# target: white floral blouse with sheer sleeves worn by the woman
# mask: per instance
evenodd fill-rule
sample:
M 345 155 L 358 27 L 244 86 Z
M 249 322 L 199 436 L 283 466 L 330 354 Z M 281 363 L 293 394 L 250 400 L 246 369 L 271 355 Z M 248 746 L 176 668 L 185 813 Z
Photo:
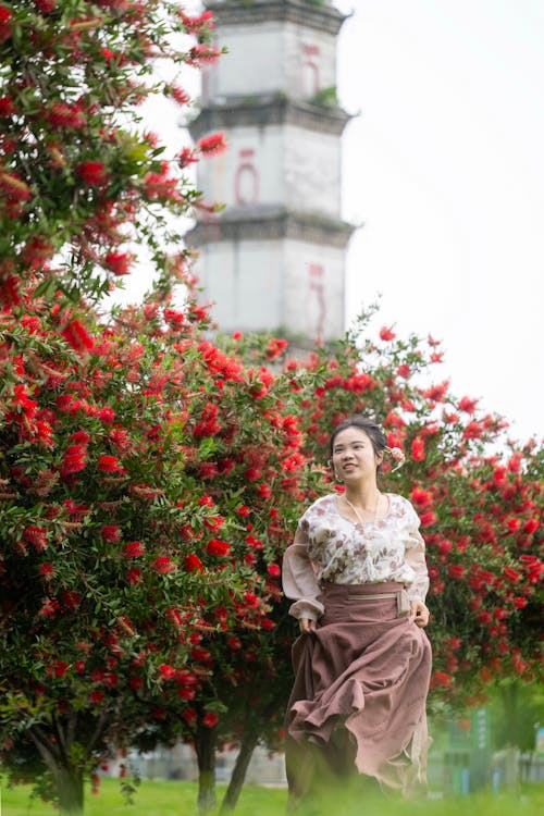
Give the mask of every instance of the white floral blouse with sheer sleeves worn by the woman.
M 379 521 L 355 522 L 338 510 L 337 494 L 318 498 L 298 522 L 283 558 L 283 590 L 295 618 L 317 618 L 320 581 L 404 583 L 410 601 L 424 601 L 429 589 L 425 544 L 419 518 L 404 496 L 387 493 L 388 508 Z

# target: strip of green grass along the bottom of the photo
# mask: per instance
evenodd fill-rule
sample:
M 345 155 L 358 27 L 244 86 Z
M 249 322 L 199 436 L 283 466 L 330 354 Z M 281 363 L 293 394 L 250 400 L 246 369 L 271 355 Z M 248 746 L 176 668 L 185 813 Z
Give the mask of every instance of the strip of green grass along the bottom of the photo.
M 218 786 L 219 800 L 224 786 Z M 195 816 L 197 786 L 194 782 L 144 781 L 134 805 L 124 804 L 119 782 L 103 779 L 98 796 L 86 795 L 85 816 Z M 236 816 L 283 816 L 286 791 L 247 786 Z M 306 816 L 310 811 L 300 812 Z M 540 816 L 544 813 L 544 784 L 526 788 L 520 794 L 473 794 L 445 800 L 385 801 L 346 789 L 326 792 L 316 816 Z M 2 787 L 1 816 L 54 816 L 51 805 L 30 799 L 28 787 Z

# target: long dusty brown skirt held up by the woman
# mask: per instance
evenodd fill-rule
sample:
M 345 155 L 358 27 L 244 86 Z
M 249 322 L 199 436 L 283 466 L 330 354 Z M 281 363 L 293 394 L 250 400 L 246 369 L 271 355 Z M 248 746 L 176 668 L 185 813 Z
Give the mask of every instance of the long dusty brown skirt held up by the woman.
M 401 584 L 329 583 L 320 601 L 316 632 L 293 645 L 290 793 L 308 792 L 326 765 L 409 794 L 425 781 L 429 640 L 407 615 Z

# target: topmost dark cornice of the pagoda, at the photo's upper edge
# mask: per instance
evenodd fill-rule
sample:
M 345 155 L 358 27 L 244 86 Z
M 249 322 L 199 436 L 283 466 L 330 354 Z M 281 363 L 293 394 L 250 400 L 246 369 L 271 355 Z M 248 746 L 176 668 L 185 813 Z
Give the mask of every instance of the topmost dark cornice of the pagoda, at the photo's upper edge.
M 260 25 L 269 21 L 288 21 L 336 36 L 346 15 L 332 5 L 305 0 L 224 0 L 207 2 L 218 24 Z

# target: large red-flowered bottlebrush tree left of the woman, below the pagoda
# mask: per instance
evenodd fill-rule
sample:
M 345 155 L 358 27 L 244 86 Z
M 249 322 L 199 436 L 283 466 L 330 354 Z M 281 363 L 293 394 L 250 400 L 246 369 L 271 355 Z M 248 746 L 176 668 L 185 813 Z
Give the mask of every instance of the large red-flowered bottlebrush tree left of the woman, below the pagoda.
M 82 356 L 23 304 L 0 322 L 4 762 L 34 744 L 71 813 L 111 744 L 196 724 L 208 770 L 214 653 L 274 627 L 304 458 L 289 384 L 202 339 L 196 307 L 88 325 Z

